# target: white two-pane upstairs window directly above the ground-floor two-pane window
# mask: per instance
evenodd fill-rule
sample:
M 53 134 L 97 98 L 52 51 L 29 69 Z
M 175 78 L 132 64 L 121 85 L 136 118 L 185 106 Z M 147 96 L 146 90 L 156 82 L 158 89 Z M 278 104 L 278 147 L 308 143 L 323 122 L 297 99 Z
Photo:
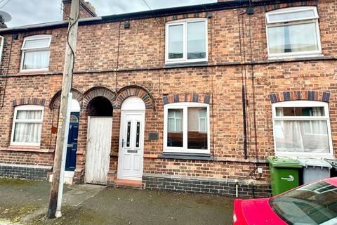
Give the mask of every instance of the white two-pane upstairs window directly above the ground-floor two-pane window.
M 207 33 L 206 18 L 190 18 L 166 23 L 165 62 L 206 62 Z

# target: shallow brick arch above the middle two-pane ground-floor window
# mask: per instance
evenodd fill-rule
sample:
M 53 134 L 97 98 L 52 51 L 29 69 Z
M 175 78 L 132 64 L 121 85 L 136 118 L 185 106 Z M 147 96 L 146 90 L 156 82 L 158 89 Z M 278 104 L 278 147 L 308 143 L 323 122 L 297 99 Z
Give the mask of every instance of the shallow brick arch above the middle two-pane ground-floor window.
M 180 103 L 180 102 L 194 102 L 194 103 L 206 103 L 211 102 L 211 96 L 209 94 L 169 94 L 163 96 L 164 105 L 170 103 Z

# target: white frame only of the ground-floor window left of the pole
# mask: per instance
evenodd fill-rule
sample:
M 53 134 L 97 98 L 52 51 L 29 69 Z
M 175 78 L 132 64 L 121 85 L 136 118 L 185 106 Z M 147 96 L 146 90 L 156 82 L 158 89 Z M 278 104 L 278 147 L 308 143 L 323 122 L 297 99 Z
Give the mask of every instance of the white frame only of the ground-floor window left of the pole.
M 32 111 L 32 110 L 41 110 L 41 120 L 18 120 L 16 119 L 16 115 L 19 111 Z M 14 110 L 14 117 L 13 117 L 13 124 L 12 124 L 12 134 L 11 134 L 11 145 L 13 146 L 40 146 L 41 142 L 39 143 L 27 143 L 27 142 L 15 142 L 14 141 L 14 132 L 15 132 L 15 123 L 16 122 L 34 122 L 34 123 L 41 123 L 44 120 L 44 106 L 41 105 L 19 105 L 15 107 Z M 42 131 L 41 131 L 42 133 Z M 41 133 L 39 134 L 41 140 Z

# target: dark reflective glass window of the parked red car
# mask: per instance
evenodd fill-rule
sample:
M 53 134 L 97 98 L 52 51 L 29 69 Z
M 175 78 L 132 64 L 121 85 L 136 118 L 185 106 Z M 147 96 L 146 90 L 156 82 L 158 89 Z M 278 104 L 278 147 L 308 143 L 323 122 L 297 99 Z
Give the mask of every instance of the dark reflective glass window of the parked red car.
M 270 199 L 287 224 L 337 224 L 337 187 L 319 181 Z

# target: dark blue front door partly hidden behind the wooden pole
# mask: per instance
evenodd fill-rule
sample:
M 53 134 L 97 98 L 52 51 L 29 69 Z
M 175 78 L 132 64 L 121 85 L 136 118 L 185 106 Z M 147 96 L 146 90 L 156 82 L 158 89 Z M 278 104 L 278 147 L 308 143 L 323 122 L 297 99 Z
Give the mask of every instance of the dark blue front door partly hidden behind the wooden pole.
M 76 167 L 77 136 L 79 135 L 79 112 L 70 113 L 67 158 L 65 170 L 74 171 Z

